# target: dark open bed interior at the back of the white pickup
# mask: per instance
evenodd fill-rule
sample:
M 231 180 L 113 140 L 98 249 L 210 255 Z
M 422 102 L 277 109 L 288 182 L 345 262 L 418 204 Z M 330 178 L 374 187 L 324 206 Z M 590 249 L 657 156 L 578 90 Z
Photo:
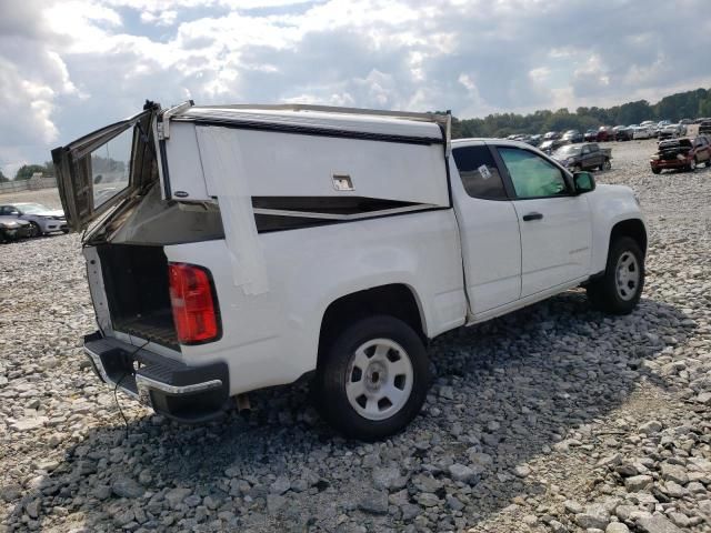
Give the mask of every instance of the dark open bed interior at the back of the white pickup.
M 162 247 L 98 247 L 113 329 L 179 350 Z

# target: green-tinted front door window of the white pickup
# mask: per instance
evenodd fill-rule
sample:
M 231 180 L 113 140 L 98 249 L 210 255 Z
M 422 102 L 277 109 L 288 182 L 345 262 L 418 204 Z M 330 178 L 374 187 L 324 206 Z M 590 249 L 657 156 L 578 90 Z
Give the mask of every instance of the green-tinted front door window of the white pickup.
M 568 194 L 563 172 L 540 155 L 518 148 L 499 147 L 518 198 L 545 198 Z

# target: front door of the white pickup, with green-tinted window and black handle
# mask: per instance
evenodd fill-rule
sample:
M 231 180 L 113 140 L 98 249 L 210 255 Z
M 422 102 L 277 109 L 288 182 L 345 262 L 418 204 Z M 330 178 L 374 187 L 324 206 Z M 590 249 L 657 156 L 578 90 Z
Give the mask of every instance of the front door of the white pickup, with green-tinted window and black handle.
M 584 195 L 574 195 L 563 170 L 518 147 L 498 147 L 514 190 L 521 228 L 521 298 L 590 273 L 592 223 Z

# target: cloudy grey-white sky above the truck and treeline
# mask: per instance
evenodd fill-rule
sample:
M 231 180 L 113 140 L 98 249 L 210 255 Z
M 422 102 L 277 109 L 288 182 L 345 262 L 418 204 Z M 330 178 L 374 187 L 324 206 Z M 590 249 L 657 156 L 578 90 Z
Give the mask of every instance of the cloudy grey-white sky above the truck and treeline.
M 711 87 L 709 0 L 0 0 L 0 169 L 163 105 L 490 112 Z

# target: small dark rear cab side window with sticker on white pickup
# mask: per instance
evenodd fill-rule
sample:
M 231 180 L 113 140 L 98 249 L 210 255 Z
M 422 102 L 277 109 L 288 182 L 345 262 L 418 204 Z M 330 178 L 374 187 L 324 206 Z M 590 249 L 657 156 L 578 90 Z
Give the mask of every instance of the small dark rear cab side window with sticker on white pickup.
M 507 200 L 507 191 L 489 147 L 462 147 L 452 150 L 467 194 L 488 200 Z

